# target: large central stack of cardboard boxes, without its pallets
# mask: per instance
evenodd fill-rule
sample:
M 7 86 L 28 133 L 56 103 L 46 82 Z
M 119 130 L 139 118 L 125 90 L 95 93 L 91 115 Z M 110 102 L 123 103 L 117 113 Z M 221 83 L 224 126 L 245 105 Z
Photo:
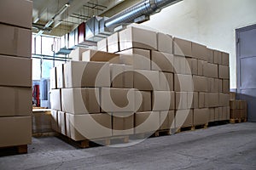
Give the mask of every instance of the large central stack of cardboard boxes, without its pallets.
M 137 26 L 103 39 L 98 49 L 77 48 L 73 61 L 52 70 L 57 132 L 96 139 L 205 125 L 212 115 L 229 119 L 228 54 L 217 51 L 214 63 L 206 46 Z

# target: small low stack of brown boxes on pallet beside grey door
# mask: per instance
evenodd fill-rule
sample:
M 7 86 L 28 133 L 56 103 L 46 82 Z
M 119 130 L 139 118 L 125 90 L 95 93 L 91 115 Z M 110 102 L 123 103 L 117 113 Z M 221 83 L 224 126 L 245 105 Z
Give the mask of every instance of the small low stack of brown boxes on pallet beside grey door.
M 237 100 L 236 93 L 230 92 L 230 123 L 247 122 L 247 101 Z

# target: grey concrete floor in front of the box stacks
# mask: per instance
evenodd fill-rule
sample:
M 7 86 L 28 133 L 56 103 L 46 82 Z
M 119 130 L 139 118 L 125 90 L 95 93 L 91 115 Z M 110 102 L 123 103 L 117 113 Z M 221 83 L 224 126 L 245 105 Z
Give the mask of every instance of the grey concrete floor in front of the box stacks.
M 0 169 L 256 169 L 256 123 L 209 127 L 123 148 L 78 149 L 33 138 L 28 154 L 1 156 Z

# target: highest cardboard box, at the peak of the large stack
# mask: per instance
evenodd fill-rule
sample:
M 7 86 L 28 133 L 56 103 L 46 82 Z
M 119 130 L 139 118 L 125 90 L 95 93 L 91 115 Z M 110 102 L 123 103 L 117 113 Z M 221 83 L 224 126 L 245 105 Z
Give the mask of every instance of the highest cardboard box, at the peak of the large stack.
M 129 48 L 143 48 L 157 50 L 156 32 L 137 27 L 128 27 L 119 32 L 120 51 Z

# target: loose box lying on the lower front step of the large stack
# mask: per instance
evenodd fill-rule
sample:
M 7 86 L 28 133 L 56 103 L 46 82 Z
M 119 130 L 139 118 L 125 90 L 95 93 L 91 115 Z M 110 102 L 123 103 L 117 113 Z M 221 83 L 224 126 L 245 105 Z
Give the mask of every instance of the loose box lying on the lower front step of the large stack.
M 119 54 L 110 54 L 107 52 L 89 49 L 82 54 L 83 61 L 109 62 L 119 64 Z

